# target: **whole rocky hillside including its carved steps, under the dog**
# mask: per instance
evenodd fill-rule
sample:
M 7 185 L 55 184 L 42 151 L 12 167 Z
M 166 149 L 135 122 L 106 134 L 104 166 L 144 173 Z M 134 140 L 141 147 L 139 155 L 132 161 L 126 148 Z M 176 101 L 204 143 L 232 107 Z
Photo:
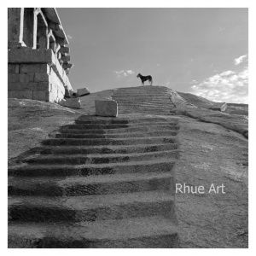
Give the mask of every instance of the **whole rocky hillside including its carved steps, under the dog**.
M 97 98 L 119 117 L 96 117 Z M 9 247 L 248 246 L 246 106 L 163 86 L 81 102 L 9 99 Z

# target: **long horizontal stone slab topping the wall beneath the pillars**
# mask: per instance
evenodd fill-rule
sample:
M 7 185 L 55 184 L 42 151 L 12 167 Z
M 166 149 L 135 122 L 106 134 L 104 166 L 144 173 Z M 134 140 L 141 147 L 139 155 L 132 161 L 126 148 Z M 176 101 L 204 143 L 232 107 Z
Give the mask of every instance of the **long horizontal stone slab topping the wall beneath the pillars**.
M 20 48 L 10 49 L 10 63 L 49 63 L 55 64 L 55 55 L 51 49 Z

